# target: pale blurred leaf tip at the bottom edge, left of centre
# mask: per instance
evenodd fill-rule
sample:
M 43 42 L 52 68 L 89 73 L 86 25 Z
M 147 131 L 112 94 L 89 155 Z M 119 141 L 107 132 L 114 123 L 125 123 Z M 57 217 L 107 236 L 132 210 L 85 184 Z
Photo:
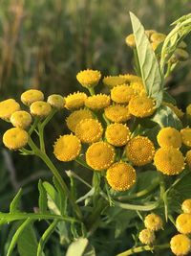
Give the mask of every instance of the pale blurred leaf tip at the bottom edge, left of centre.
M 66 256 L 82 256 L 88 243 L 86 238 L 79 238 L 69 245 Z

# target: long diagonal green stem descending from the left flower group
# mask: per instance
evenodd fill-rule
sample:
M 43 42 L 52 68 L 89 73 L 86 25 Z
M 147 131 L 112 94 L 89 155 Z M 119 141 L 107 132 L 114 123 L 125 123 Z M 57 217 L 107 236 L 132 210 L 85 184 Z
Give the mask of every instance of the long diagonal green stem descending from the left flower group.
M 56 180 L 58 181 L 58 183 L 60 184 L 61 186 L 61 189 L 63 191 L 64 194 L 67 195 L 67 197 L 69 198 L 70 202 L 71 202 L 71 205 L 73 206 L 74 208 L 74 212 L 77 216 L 77 218 L 79 220 L 82 219 L 82 214 L 81 214 L 81 210 L 79 208 L 79 206 L 75 203 L 74 201 L 74 198 L 71 196 L 71 193 L 66 185 L 66 183 L 64 182 L 63 178 L 61 175 L 59 175 L 57 169 L 55 168 L 55 166 L 53 165 L 53 162 L 51 161 L 51 159 L 49 158 L 49 156 L 45 153 L 45 152 L 42 152 L 40 151 L 36 146 L 35 144 L 33 143 L 32 139 L 30 138 L 29 140 L 29 145 L 30 147 L 32 148 L 32 150 L 34 151 L 34 153 L 39 156 L 43 161 L 44 163 L 49 167 L 49 169 L 52 171 L 54 177 L 56 178 Z

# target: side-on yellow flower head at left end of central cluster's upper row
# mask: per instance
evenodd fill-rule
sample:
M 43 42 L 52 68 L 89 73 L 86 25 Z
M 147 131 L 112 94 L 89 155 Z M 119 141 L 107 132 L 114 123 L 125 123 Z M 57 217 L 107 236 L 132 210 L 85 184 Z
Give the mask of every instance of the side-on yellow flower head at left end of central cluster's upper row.
M 74 110 L 84 106 L 87 95 L 84 92 L 74 92 L 69 94 L 65 99 L 65 107 Z

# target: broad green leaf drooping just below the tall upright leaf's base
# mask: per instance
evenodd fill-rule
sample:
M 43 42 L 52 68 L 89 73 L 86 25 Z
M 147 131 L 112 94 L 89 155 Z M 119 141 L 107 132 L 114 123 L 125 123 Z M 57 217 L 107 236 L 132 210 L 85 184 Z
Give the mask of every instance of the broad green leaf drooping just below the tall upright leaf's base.
M 151 120 L 156 122 L 160 128 L 182 128 L 182 124 L 178 116 L 166 105 L 161 105 Z

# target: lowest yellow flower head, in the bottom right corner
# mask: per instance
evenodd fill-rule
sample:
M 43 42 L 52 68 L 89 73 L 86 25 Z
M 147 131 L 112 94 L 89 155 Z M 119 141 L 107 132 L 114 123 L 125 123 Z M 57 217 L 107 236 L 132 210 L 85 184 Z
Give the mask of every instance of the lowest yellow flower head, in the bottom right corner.
M 191 240 L 185 235 L 176 235 L 170 241 L 170 248 L 177 256 L 187 255 L 191 250 Z

